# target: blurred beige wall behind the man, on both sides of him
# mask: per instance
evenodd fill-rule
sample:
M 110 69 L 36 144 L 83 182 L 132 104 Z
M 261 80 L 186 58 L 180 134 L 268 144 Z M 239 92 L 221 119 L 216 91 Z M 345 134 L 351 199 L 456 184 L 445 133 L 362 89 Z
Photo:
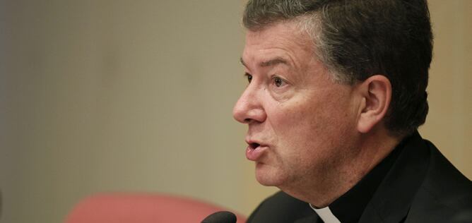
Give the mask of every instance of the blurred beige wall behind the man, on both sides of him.
M 249 215 L 231 110 L 246 80 L 244 0 L 0 0 L 0 222 L 61 222 L 99 192 L 170 193 Z M 472 178 L 472 1 L 430 1 L 420 128 Z

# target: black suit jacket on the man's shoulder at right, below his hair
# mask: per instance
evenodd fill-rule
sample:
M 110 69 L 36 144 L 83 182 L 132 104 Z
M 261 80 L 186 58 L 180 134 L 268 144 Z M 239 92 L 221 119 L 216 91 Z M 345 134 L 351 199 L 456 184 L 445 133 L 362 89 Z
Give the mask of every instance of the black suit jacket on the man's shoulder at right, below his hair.
M 418 133 L 374 193 L 360 222 L 472 222 L 472 183 Z

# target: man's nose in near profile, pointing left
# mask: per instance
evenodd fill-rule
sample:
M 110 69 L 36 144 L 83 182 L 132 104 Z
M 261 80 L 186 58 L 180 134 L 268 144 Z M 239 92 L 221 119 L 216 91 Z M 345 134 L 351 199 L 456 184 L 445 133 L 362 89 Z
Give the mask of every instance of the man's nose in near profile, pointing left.
M 264 122 L 266 120 L 266 111 L 261 104 L 261 92 L 254 87 L 247 86 L 232 109 L 232 116 L 240 123 Z

